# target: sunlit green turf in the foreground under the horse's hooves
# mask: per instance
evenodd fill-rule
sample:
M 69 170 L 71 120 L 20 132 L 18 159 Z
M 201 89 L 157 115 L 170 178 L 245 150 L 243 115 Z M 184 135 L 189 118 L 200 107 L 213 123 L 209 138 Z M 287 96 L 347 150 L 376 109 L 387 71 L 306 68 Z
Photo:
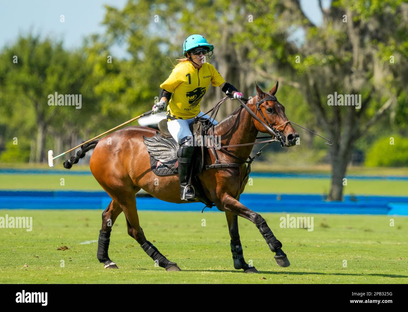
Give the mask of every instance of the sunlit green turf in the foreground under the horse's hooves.
M 288 268 L 275 264 L 257 228 L 240 218 L 244 257 L 260 272 L 244 274 L 233 268 L 221 212 L 139 212 L 147 239 L 182 272 L 155 268 L 127 235 L 123 214 L 113 226 L 109 249 L 119 270 L 98 263 L 96 242 L 81 244 L 98 239 L 99 210 L 0 210 L 0 216 L 6 214 L 33 217 L 33 230 L 0 229 L 1 283 L 408 283 L 406 217 L 309 215 L 314 230 L 308 232 L 280 228 L 282 214 L 264 213 L 284 244 Z

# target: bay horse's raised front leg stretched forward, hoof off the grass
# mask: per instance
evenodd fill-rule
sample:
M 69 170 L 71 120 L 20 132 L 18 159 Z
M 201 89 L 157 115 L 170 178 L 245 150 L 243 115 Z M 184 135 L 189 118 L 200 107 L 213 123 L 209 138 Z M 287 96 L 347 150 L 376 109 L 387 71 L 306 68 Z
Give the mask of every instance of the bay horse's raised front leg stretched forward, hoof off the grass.
M 259 232 L 261 232 L 262 237 L 264 237 L 266 243 L 268 244 L 269 249 L 271 249 L 272 252 L 275 252 L 274 258 L 278 266 L 290 266 L 290 262 L 282 250 L 282 243 L 276 239 L 275 235 L 273 235 L 273 232 L 261 215 L 250 210 L 229 194 L 222 195 L 220 197 L 220 201 L 224 211 L 232 212 L 235 215 L 252 221 L 252 223 L 256 225 Z

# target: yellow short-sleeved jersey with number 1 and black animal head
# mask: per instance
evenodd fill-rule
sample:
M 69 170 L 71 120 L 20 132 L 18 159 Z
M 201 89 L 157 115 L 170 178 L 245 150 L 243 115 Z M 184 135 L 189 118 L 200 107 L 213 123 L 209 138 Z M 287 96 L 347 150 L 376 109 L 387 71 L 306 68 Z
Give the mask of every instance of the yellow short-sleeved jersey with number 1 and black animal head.
M 197 116 L 210 81 L 213 86 L 225 82 L 212 64 L 204 63 L 200 69 L 196 69 L 190 61 L 177 64 L 169 78 L 160 84 L 160 88 L 173 93 L 167 106 L 168 120 Z

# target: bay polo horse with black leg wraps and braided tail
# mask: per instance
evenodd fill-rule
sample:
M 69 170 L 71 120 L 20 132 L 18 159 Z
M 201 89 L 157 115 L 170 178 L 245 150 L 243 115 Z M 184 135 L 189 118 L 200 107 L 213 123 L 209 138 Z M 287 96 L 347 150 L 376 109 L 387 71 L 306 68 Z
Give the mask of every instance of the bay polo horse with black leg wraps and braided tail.
M 268 126 L 276 130 L 279 130 L 277 128 L 280 126 L 284 127 L 280 129 L 283 137 L 282 147 L 295 145 L 299 134 L 286 118 L 284 106 L 275 97 L 278 83 L 268 93 L 264 93 L 256 83 L 255 87 L 257 94 L 248 100 L 246 109 L 241 105 L 212 128 L 213 135 L 221 135 L 223 146 L 243 145 L 228 147 L 227 153 L 224 152 L 225 149 L 218 150 L 217 155 L 214 155 L 214 150 L 208 149 L 208 152 L 204 153 L 204 166 L 214 164 L 216 159 L 221 163 L 237 163 L 237 159 L 248 159 L 257 133 L 271 134 Z M 263 117 L 266 124 L 260 117 Z M 91 172 L 112 198 L 109 206 L 102 212 L 102 228 L 98 239 L 97 258 L 100 263 L 104 263 L 105 268 L 118 268 L 109 258 L 108 248 L 112 226 L 123 211 L 128 234 L 140 244 L 155 263 L 167 271 L 180 271 L 177 263 L 169 261 L 146 239 L 137 215 L 135 195 L 141 189 L 163 201 L 185 203 L 180 199 L 180 185 L 176 174 L 157 176 L 151 170 L 149 153 L 143 144 L 143 136 L 152 137 L 155 133 L 157 131 L 153 128 L 130 126 L 91 142 L 83 150 L 84 155 L 86 151 L 95 148 L 89 163 Z M 245 163 L 242 164 L 245 165 Z M 275 252 L 274 258 L 277 265 L 282 267 L 290 265 L 282 250 L 282 243 L 273 235 L 265 219 L 239 202 L 239 195 L 244 191 L 248 181 L 246 166 L 202 170 L 198 179 L 206 197 L 212 200 L 219 210 L 225 212 L 235 269 L 243 269 L 246 273 L 258 272 L 244 260 L 238 232 L 238 216 L 250 220 L 259 229 L 270 250 Z

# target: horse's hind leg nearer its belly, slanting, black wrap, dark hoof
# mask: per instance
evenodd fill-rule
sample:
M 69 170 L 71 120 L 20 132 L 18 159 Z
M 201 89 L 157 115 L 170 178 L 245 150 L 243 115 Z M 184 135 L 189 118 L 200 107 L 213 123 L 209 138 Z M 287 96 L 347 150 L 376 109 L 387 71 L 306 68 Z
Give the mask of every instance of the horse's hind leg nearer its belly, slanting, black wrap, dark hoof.
M 126 216 L 128 234 L 133 237 L 140 247 L 157 263 L 158 266 L 165 268 L 166 271 L 181 271 L 177 263 L 169 261 L 153 244 L 146 239 L 143 230 L 140 227 L 139 216 L 137 215 L 135 195 L 127 197 L 120 203 Z

